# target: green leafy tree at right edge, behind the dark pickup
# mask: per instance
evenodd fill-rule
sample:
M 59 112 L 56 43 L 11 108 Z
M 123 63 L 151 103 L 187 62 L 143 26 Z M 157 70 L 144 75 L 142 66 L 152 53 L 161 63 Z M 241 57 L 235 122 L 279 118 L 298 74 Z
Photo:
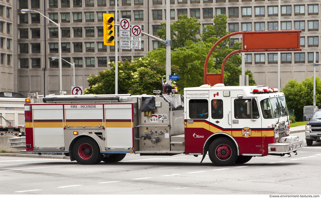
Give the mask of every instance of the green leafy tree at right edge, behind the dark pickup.
M 307 105 L 313 105 L 313 76 L 305 78 L 300 83 L 297 80 L 290 79 L 281 90 L 284 92 L 287 108 L 294 109 L 294 115 L 297 121 L 303 117 L 303 108 Z M 321 105 L 321 82 L 318 76 L 315 78 L 315 104 Z

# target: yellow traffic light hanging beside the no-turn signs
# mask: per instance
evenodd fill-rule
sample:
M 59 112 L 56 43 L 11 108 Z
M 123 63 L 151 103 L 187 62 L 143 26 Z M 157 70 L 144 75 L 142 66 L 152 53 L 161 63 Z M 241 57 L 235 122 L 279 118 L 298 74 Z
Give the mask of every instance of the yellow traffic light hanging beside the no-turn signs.
M 115 45 L 114 14 L 103 13 L 104 22 L 104 44 Z

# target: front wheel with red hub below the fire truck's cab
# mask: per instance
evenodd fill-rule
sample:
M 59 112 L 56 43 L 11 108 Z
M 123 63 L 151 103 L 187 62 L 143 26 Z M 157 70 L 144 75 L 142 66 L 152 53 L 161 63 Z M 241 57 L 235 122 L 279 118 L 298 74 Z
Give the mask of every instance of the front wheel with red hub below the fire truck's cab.
M 238 156 L 236 145 L 227 137 L 215 139 L 209 147 L 209 156 L 214 165 L 233 165 Z

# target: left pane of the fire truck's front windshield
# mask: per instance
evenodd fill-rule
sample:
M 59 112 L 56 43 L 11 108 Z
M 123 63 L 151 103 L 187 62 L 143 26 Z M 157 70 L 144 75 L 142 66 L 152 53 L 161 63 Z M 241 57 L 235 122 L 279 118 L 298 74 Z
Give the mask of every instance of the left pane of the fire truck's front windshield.
M 284 99 L 285 102 L 285 99 Z M 276 97 L 266 98 L 261 100 L 261 108 L 264 118 L 279 117 L 278 100 Z M 284 107 L 285 108 L 285 107 Z

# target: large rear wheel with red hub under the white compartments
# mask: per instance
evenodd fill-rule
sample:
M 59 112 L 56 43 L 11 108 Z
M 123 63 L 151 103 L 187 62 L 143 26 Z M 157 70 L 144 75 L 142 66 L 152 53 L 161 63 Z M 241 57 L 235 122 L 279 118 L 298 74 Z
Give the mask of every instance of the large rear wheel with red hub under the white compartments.
M 95 164 L 102 159 L 98 144 L 90 137 L 78 139 L 73 147 L 73 154 L 80 164 Z

